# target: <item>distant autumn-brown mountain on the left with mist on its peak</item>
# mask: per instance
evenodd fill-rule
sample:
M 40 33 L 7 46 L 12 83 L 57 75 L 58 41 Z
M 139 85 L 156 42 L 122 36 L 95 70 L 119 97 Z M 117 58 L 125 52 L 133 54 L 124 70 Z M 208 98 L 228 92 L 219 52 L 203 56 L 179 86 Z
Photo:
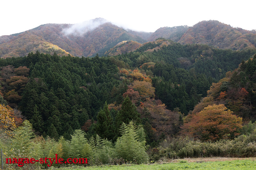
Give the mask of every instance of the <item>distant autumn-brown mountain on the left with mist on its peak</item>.
M 84 25 L 83 25 L 84 24 Z M 76 24 L 45 24 L 34 29 L 0 37 L 0 57 L 18 57 L 39 50 L 60 55 L 103 55 L 121 41 L 147 42 L 102 18 Z

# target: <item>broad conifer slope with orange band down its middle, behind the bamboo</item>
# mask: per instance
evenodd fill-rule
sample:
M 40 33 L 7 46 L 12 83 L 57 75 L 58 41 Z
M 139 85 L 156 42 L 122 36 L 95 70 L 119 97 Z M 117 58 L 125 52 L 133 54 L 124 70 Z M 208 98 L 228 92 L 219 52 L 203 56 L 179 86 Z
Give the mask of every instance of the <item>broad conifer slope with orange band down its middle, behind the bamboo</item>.
M 164 39 L 116 57 L 90 59 L 36 52 L 1 59 L 1 92 L 37 133 L 67 139 L 75 129 L 100 135 L 100 127 L 111 125 L 115 133 L 102 137 L 116 140 L 122 122 L 132 120 L 122 112 L 128 96 L 138 115 L 133 119 L 148 129 L 147 141 L 152 143 L 161 134 L 175 135 L 182 125 L 182 114 L 194 109 L 212 82 L 254 53 L 252 49 L 184 46 Z M 210 72 L 205 71 L 209 68 Z M 106 101 L 111 118 L 105 107 L 100 111 Z M 111 121 L 105 120 L 103 112 Z M 107 125 L 95 124 L 98 114 Z

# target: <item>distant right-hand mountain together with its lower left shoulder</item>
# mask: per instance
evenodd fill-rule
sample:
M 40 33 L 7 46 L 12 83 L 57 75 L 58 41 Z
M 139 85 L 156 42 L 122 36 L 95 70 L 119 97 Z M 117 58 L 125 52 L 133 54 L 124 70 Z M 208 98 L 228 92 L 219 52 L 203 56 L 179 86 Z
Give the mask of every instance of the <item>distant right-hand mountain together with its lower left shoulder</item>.
M 201 21 L 194 26 L 161 27 L 150 35 L 170 39 L 181 44 L 207 44 L 221 49 L 241 50 L 256 47 L 256 31 L 233 28 L 216 20 Z

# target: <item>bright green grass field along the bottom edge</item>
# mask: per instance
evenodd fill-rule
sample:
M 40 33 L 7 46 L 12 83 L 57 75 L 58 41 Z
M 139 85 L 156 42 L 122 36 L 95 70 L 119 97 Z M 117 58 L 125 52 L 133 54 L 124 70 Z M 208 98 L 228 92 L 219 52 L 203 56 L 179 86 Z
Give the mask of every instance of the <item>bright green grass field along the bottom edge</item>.
M 92 166 L 53 168 L 56 170 L 176 170 L 176 169 L 256 169 L 255 160 L 231 160 L 215 162 L 188 162 L 181 160 L 178 163 L 148 164 L 148 165 L 121 165 L 121 166 Z

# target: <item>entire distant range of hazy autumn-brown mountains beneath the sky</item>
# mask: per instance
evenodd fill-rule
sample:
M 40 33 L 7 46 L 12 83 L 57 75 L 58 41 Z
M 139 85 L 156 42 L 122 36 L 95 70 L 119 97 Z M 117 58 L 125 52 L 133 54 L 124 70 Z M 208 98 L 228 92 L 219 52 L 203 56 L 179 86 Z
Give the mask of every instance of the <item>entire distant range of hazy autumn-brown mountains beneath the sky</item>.
M 255 31 L 233 28 L 212 20 L 202 21 L 191 27 L 162 27 L 154 33 L 124 30 L 102 18 L 91 20 L 90 23 L 98 25 L 80 28 L 76 24 L 44 24 L 22 33 L 0 36 L 0 57 L 25 56 L 37 50 L 46 54 L 55 52 L 58 55 L 90 57 L 98 53 L 102 56 L 110 54 L 108 51 L 111 48 L 116 50 L 115 46 L 122 41 L 145 43 L 158 38 L 181 44 L 207 44 L 233 50 L 255 48 L 256 44 Z M 135 47 L 138 46 L 123 52 L 133 51 Z M 121 51 L 111 54 L 120 54 Z

